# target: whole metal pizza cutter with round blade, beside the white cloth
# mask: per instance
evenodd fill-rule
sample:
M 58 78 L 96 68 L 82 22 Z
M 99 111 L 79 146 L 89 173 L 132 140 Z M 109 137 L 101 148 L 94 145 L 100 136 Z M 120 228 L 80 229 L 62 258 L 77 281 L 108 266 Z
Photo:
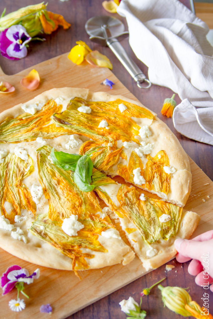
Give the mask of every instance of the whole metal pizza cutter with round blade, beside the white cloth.
M 87 21 L 85 29 L 87 34 L 90 35 L 89 40 L 102 46 L 108 46 L 112 50 L 137 82 L 138 87 L 148 89 L 151 86 L 149 79 L 146 78 L 131 57 L 127 55 L 125 49 L 118 41 L 118 38 L 123 40 L 129 35 L 128 31 L 124 31 L 124 25 L 120 20 L 110 16 L 95 16 Z M 142 85 L 144 82 L 147 85 Z

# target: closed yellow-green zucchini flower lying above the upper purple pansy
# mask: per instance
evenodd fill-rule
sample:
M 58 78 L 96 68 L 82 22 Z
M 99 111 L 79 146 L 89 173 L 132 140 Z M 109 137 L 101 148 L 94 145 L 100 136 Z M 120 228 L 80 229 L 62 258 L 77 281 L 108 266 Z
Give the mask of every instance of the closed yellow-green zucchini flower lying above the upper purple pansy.
M 28 5 L 27 7 L 20 8 L 17 11 L 11 12 L 4 16 L 4 12 L 0 18 L 0 31 L 4 31 L 5 29 L 9 28 L 10 26 L 16 25 L 21 23 L 24 27 L 23 20 L 26 18 L 32 19 L 32 15 L 36 12 L 46 9 L 46 4 L 43 2 L 40 4 L 35 5 Z M 34 19 L 34 18 L 33 18 Z M 27 32 L 29 29 L 26 28 Z

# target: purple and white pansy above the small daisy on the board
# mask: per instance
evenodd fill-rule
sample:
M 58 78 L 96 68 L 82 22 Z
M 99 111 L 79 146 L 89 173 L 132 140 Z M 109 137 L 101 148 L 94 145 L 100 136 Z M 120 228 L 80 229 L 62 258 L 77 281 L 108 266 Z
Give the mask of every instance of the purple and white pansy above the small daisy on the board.
M 9 293 L 17 283 L 27 283 L 28 285 L 33 282 L 34 279 L 39 278 L 40 270 L 36 269 L 32 275 L 25 268 L 21 268 L 18 265 L 13 265 L 7 268 L 1 277 L 1 287 L 3 290 L 3 295 Z

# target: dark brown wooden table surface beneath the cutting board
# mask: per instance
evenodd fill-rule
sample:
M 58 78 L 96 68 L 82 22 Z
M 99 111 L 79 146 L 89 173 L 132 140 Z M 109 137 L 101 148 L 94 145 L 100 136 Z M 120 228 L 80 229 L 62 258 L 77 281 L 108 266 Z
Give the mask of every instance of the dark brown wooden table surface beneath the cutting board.
M 181 0 L 183 4 L 189 7 L 189 0 Z M 118 62 L 117 58 L 107 47 L 101 47 L 93 42 L 90 42 L 88 35 L 85 31 L 84 25 L 87 19 L 95 15 L 112 15 L 119 18 L 126 26 L 126 20 L 121 18 L 118 14 L 110 14 L 102 7 L 102 1 L 97 0 L 70 0 L 61 2 L 59 0 L 51 0 L 48 4 L 48 10 L 62 14 L 66 21 L 71 23 L 71 28 L 63 30 L 59 28 L 51 35 L 44 35 L 46 38 L 44 42 L 35 41 L 30 42 L 28 48 L 28 55 L 26 58 L 12 61 L 7 60 L 0 56 L 0 66 L 5 74 L 15 74 L 24 70 L 36 63 L 40 63 L 49 58 L 58 56 L 62 53 L 70 51 L 75 45 L 75 41 L 85 41 L 91 49 L 99 50 L 101 53 L 108 56 L 113 64 L 112 72 L 116 77 L 133 93 L 133 95 L 141 101 L 142 104 L 157 113 L 158 117 L 162 119 L 172 130 L 172 132 L 179 139 L 180 144 L 185 149 L 186 153 L 194 160 L 194 162 L 203 170 L 205 174 L 213 180 L 213 167 L 212 167 L 212 153 L 213 148 L 210 145 L 195 142 L 179 134 L 173 126 L 172 119 L 167 119 L 161 115 L 160 111 L 163 101 L 167 97 L 171 97 L 172 91 L 168 88 L 152 85 L 148 90 L 140 89 L 137 87 L 136 82 L 133 81 L 129 73 Z M 20 7 L 35 4 L 34 0 L 1 0 L 0 12 L 4 7 L 7 8 L 6 13 L 18 10 Z M 127 30 L 127 27 L 126 27 Z M 128 39 L 121 43 L 126 49 L 128 54 L 133 58 L 141 70 L 147 74 L 147 67 L 134 56 L 131 50 Z M 146 45 L 146 43 L 144 43 Z M 72 75 L 71 75 L 72 76 Z M 87 79 L 85 79 L 86 81 Z M 113 92 L 110 92 L 113 94 Z M 8 97 L 10 98 L 10 97 Z M 176 95 L 175 100 L 179 104 L 179 97 Z M 188 263 L 180 264 L 176 260 L 171 262 L 175 268 L 170 272 L 165 272 L 165 265 L 144 275 L 143 277 L 135 280 L 131 284 L 117 290 L 109 296 L 95 302 L 94 304 L 84 308 L 77 313 L 69 316 L 67 319 L 119 319 L 126 318 L 125 314 L 120 311 L 118 302 L 122 299 L 128 299 L 132 296 L 136 301 L 140 302 L 140 292 L 143 288 L 151 286 L 159 279 L 166 277 L 164 285 L 166 286 L 181 286 L 189 287 L 190 294 L 194 300 L 202 305 L 203 288 L 194 283 L 194 277 L 190 276 L 187 272 Z M 157 288 L 148 297 L 143 298 L 142 308 L 147 311 L 147 317 L 152 319 L 173 319 L 180 318 L 179 315 L 172 313 L 169 309 L 163 307 L 163 302 L 159 298 Z M 213 313 L 213 294 L 210 295 L 210 308 Z M 41 316 L 42 317 L 42 316 Z

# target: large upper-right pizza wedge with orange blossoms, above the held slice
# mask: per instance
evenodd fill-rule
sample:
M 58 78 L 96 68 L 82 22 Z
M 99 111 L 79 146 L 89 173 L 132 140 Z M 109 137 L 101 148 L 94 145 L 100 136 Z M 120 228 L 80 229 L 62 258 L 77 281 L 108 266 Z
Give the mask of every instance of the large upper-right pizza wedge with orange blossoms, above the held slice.
M 71 134 L 87 137 L 80 152 L 95 168 L 183 207 L 191 190 L 189 159 L 179 141 L 142 105 L 107 93 L 76 97 L 52 116 Z

